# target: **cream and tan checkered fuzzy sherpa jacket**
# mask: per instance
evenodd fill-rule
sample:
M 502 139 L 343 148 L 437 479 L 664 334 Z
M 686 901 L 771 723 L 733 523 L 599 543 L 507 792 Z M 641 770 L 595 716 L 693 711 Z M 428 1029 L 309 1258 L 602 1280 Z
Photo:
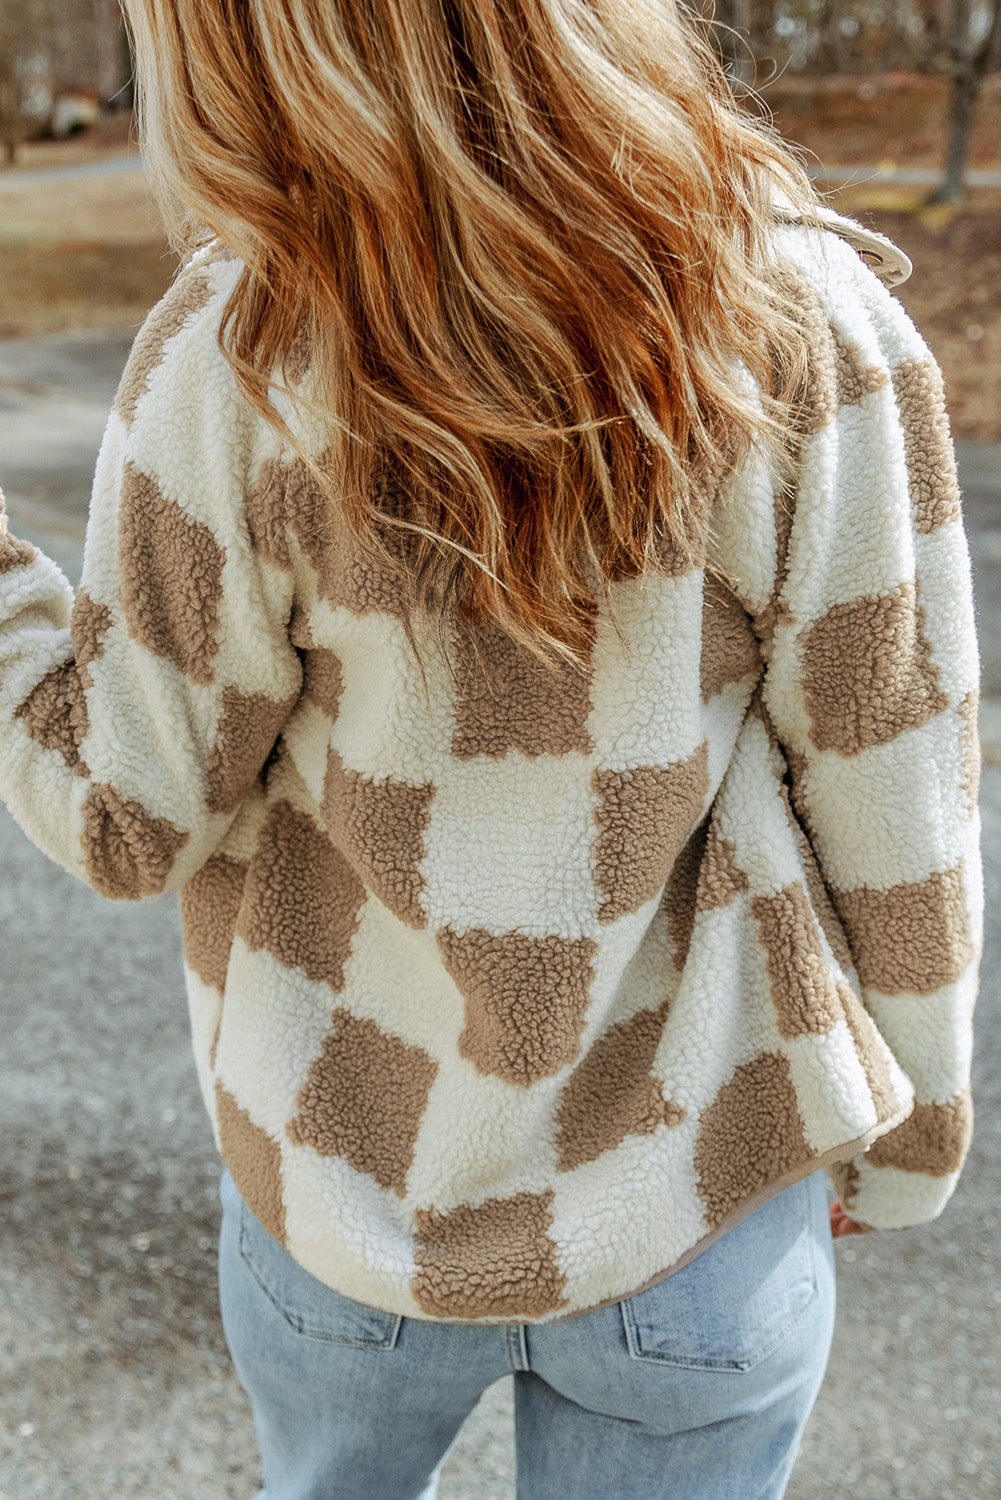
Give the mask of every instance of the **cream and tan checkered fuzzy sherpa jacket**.
M 179 891 L 236 1182 L 338 1292 L 548 1322 L 827 1167 L 933 1220 L 969 1149 L 978 652 L 936 366 L 845 238 L 779 231 L 812 338 L 794 496 L 614 585 L 587 675 L 398 596 L 216 346 L 140 333 L 83 584 L 0 531 L 0 790 L 110 897 Z M 464 627 L 465 628 L 465 627 Z

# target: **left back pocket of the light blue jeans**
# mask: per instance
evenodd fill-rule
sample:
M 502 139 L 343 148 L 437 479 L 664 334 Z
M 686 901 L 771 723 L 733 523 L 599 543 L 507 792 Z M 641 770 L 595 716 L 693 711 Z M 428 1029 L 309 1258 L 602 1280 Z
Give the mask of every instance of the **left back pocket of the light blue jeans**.
M 404 1322 L 401 1312 L 386 1312 L 335 1292 L 269 1234 L 243 1198 L 236 1208 L 239 1256 L 296 1334 L 359 1348 L 393 1348 Z

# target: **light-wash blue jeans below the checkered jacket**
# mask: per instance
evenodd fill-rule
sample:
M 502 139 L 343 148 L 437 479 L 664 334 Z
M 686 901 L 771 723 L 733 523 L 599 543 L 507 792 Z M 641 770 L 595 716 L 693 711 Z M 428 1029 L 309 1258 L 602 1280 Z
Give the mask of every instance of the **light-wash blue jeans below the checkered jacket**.
M 647 1292 L 554 1323 L 354 1302 L 291 1258 L 228 1172 L 221 1197 L 222 1323 L 254 1410 L 257 1500 L 434 1500 L 464 1419 L 512 1372 L 518 1500 L 785 1494 L 834 1334 L 824 1172 Z

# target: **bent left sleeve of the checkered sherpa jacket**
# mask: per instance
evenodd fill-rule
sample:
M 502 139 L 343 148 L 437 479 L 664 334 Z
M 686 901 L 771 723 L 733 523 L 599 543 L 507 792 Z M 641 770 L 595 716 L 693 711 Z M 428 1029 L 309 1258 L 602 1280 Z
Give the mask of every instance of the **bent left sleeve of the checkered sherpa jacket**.
M 291 576 L 245 506 L 273 440 L 216 344 L 231 280 L 231 262 L 192 262 L 140 330 L 75 596 L 0 504 L 0 795 L 108 897 L 191 879 L 299 696 Z

